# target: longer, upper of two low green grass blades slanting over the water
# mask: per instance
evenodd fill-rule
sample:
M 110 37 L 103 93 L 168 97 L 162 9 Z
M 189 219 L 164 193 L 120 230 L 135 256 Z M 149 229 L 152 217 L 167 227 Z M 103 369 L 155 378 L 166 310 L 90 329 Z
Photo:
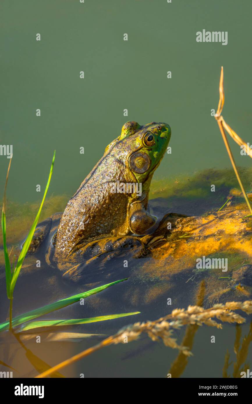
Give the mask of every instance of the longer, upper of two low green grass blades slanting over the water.
M 66 299 L 61 299 L 58 300 L 55 303 L 51 303 L 49 305 L 40 307 L 39 309 L 35 309 L 32 311 L 28 311 L 27 313 L 21 314 L 20 316 L 14 317 L 12 319 L 12 325 L 13 327 L 18 326 L 19 324 L 25 323 L 27 321 L 33 320 L 34 318 L 43 316 L 44 314 L 51 313 L 52 311 L 62 309 L 63 307 L 69 306 L 73 303 L 76 303 L 79 301 L 81 298 L 85 299 L 86 297 L 89 297 L 91 295 L 95 295 L 95 293 L 102 292 L 102 290 L 115 285 L 119 282 L 123 282 L 124 280 L 127 280 L 128 278 L 121 279 L 121 280 L 116 280 L 115 282 L 108 283 L 103 286 L 99 286 L 98 288 L 87 290 L 87 292 L 82 292 L 78 293 L 78 295 L 70 296 L 67 297 Z M 4 323 L 0 324 L 0 332 L 7 330 L 9 326 L 9 322 L 5 321 Z

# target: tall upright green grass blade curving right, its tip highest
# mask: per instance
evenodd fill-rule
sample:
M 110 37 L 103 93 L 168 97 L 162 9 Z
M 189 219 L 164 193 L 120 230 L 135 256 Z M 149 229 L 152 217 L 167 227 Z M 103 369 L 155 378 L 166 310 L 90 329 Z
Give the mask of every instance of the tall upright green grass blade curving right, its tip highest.
M 50 173 L 49 173 L 47 185 L 46 185 L 45 190 L 44 190 L 44 196 L 43 196 L 43 198 L 42 198 L 42 202 L 41 202 L 41 204 L 40 204 L 40 207 L 39 207 L 39 209 L 38 209 L 38 213 L 37 213 L 36 218 L 35 218 L 35 220 L 34 220 L 34 222 L 33 222 L 33 224 L 32 224 L 32 227 L 31 227 L 31 229 L 30 229 L 30 231 L 29 231 L 29 234 L 28 234 L 28 236 L 27 236 L 27 239 L 25 240 L 25 242 L 24 242 L 24 244 L 23 244 L 23 248 L 22 248 L 22 251 L 20 252 L 20 255 L 19 255 L 19 258 L 18 258 L 18 261 L 17 261 L 17 266 L 16 266 L 16 268 L 15 268 L 15 272 L 14 272 L 13 277 L 12 277 L 12 280 L 11 280 L 11 287 L 10 287 L 10 294 L 11 294 L 11 296 L 13 295 L 13 290 L 14 290 L 14 288 L 15 288 L 15 284 L 16 284 L 16 282 L 17 282 L 17 278 L 18 278 L 18 276 L 19 276 L 19 272 L 20 272 L 20 270 L 21 270 L 23 260 L 25 259 L 25 255 L 26 255 L 26 253 L 27 253 L 27 251 L 28 251 L 28 248 L 29 248 L 29 246 L 30 246 L 30 244 L 31 244 L 32 236 L 34 235 L 34 231 L 35 231 L 36 225 L 38 224 L 38 219 L 39 219 L 39 217 L 40 217 L 40 213 L 41 213 L 41 210 L 42 210 L 42 207 L 43 207 L 43 204 L 44 204 L 44 200 L 45 200 L 45 197 L 46 197 L 46 195 L 47 195 L 47 191 L 48 191 L 49 184 L 50 184 L 50 181 L 51 181 L 51 177 L 52 177 L 52 174 L 53 174 L 53 164 L 54 164 L 54 160 L 55 160 L 55 151 L 54 151 L 54 154 L 53 154 L 53 161 L 52 161 L 52 164 L 51 164 L 51 169 L 50 169 Z

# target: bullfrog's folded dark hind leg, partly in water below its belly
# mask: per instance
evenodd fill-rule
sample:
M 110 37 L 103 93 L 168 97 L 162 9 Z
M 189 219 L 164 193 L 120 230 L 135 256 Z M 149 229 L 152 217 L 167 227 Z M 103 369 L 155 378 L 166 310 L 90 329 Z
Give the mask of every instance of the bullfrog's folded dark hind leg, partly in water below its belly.
M 74 261 L 79 263 L 65 272 L 62 280 L 64 282 L 71 281 L 76 283 L 89 283 L 95 279 L 101 280 L 102 274 L 107 278 L 114 272 L 114 264 L 117 267 L 116 272 L 119 271 L 118 267 L 120 268 L 120 266 L 125 269 L 123 265 L 125 261 L 122 261 L 122 258 L 140 258 L 145 254 L 144 243 L 139 238 L 133 236 L 95 240 L 75 252 Z M 113 260 L 113 263 L 109 263 L 109 266 L 106 265 L 108 261 L 116 257 L 120 257 L 120 263 L 118 260 Z

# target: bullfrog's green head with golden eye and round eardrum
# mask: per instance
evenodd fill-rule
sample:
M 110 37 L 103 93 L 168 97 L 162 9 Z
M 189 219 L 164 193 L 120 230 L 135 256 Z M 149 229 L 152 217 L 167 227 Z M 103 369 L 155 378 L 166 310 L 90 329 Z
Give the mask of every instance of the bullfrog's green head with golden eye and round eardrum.
M 171 137 L 171 128 L 164 122 L 126 122 L 118 141 L 127 145 L 129 169 L 138 182 L 148 179 L 159 166 Z

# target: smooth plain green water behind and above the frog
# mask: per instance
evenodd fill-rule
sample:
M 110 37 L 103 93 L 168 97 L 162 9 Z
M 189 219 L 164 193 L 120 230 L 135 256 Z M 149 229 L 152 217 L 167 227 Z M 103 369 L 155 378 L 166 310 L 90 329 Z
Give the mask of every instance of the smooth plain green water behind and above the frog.
M 172 127 L 172 154 L 156 177 L 230 166 L 211 116 L 221 65 L 224 118 L 250 141 L 251 2 L 16 0 L 2 1 L 0 12 L 0 143 L 13 145 L 10 198 L 40 198 L 36 185 L 44 185 L 54 149 L 49 192 L 73 194 L 127 120 Z M 203 29 L 227 31 L 228 44 L 197 43 Z M 231 143 L 237 164 L 250 165 Z M 0 156 L 1 173 L 7 164 Z M 3 184 L 1 175 L 1 193 Z

